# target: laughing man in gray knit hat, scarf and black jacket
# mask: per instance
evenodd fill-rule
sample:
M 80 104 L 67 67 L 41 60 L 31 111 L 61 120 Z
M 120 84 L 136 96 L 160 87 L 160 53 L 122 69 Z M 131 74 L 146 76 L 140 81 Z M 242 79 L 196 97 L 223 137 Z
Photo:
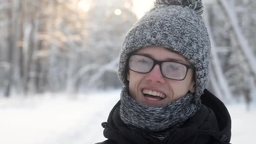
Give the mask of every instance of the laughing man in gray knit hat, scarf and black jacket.
M 156 0 L 125 37 L 124 84 L 99 144 L 229 144 L 225 105 L 206 88 L 210 39 L 201 0 Z

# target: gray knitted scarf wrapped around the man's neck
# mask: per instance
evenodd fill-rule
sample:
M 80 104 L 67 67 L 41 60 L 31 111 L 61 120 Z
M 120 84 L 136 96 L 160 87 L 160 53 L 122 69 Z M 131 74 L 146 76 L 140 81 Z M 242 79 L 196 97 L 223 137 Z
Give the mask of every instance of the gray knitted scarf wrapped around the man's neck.
M 180 127 L 200 109 L 201 103 L 192 102 L 193 93 L 160 107 L 141 105 L 131 98 L 128 88 L 121 92 L 120 117 L 131 129 L 158 138 L 161 142 L 170 137 L 172 131 Z

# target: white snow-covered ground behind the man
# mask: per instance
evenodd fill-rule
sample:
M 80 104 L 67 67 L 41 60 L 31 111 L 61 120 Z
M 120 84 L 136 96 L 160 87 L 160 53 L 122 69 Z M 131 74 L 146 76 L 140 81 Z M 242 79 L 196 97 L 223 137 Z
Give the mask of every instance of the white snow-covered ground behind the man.
M 1 144 L 94 144 L 104 141 L 101 123 L 119 99 L 120 90 L 79 95 L 0 98 Z M 256 106 L 227 106 L 233 144 L 254 143 Z

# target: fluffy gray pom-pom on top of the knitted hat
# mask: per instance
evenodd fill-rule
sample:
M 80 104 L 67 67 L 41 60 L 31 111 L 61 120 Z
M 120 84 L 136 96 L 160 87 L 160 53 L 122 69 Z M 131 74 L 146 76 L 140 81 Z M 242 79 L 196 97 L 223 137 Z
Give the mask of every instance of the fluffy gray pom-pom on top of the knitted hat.
M 167 5 L 177 5 L 181 7 L 189 7 L 194 10 L 198 16 L 203 17 L 203 2 L 202 0 L 156 0 L 154 5 L 167 4 Z

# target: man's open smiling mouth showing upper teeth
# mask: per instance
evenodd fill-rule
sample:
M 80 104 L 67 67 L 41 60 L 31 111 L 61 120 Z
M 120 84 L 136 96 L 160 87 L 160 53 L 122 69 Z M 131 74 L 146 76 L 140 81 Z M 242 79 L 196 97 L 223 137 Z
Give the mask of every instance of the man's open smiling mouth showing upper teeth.
M 142 93 L 145 96 L 145 98 L 151 101 L 161 101 L 162 99 L 166 98 L 166 95 L 164 95 L 164 93 L 153 91 L 146 88 L 142 90 Z

